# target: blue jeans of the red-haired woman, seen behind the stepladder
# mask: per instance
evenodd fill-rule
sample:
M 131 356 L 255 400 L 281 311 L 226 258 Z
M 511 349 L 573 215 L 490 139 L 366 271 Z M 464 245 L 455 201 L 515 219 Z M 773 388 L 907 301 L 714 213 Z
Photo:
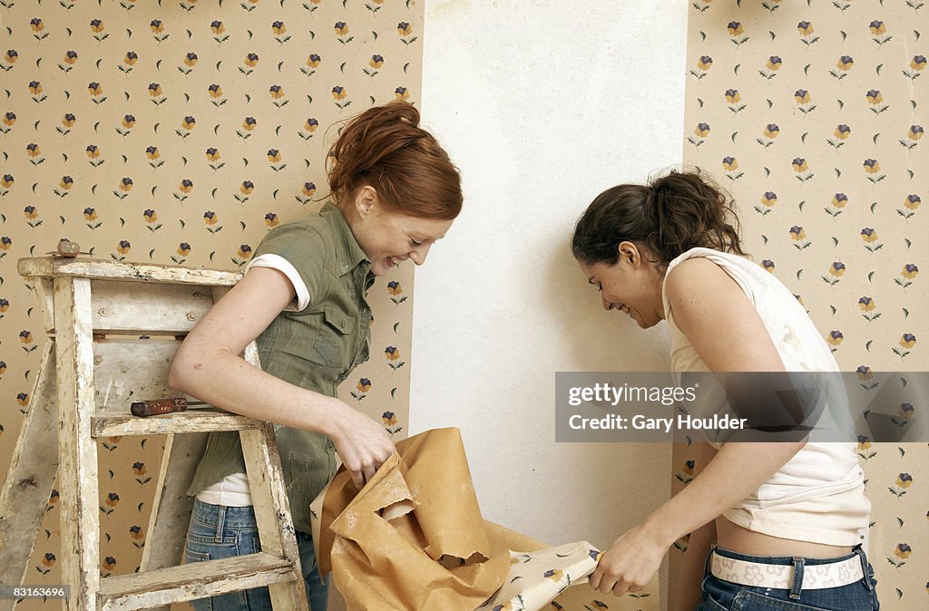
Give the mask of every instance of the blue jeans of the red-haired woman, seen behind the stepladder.
M 309 608 L 311 611 L 326 611 L 329 582 L 320 578 L 316 568 L 313 538 L 297 532 L 296 542 L 300 549 L 300 565 L 307 585 Z M 254 509 L 193 501 L 193 513 L 184 546 L 187 564 L 260 551 Z M 255 588 L 190 601 L 190 605 L 197 611 L 270 611 L 271 600 L 268 588 Z

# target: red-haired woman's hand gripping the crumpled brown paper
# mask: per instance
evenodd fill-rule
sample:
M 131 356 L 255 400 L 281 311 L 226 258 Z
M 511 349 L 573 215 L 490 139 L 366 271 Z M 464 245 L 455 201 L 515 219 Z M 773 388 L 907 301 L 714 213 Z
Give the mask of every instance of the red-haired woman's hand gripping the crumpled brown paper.
M 355 487 L 361 489 L 394 453 L 394 444 L 380 422 L 374 422 L 337 399 L 335 401 L 338 404 L 337 416 L 330 436 Z

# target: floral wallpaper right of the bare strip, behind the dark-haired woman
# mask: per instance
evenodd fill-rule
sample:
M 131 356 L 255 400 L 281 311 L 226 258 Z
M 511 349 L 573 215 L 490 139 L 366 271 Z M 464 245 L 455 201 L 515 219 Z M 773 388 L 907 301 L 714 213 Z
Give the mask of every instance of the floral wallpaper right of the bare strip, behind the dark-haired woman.
M 689 2 L 684 161 L 730 191 L 747 250 L 805 305 L 861 393 L 876 391 L 876 372 L 929 365 L 924 4 Z M 929 409 L 913 401 L 900 422 Z M 921 608 L 929 448 L 858 441 L 882 608 Z M 675 489 L 694 466 L 679 448 Z M 687 538 L 675 548 L 672 575 Z

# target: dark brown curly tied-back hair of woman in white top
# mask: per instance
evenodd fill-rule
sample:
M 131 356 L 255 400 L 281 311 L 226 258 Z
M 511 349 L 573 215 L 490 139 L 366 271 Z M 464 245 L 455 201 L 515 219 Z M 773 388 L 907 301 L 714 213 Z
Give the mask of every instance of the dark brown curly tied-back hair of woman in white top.
M 614 265 L 622 241 L 644 246 L 662 268 L 699 246 L 745 254 L 729 199 L 699 171 L 673 170 L 646 185 L 619 185 L 600 193 L 578 220 L 571 251 L 587 265 Z

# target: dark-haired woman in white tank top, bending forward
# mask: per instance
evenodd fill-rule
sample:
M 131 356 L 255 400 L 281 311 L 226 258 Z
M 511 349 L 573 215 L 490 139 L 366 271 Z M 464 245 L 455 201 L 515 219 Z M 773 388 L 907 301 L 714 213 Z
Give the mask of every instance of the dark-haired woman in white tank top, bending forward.
M 643 329 L 667 321 L 677 373 L 838 370 L 803 306 L 745 258 L 738 220 L 705 176 L 671 172 L 604 191 L 578 221 L 572 251 L 604 308 Z M 698 444 L 693 481 L 616 539 L 591 585 L 641 589 L 690 533 L 679 611 L 877 609 L 854 449 Z

